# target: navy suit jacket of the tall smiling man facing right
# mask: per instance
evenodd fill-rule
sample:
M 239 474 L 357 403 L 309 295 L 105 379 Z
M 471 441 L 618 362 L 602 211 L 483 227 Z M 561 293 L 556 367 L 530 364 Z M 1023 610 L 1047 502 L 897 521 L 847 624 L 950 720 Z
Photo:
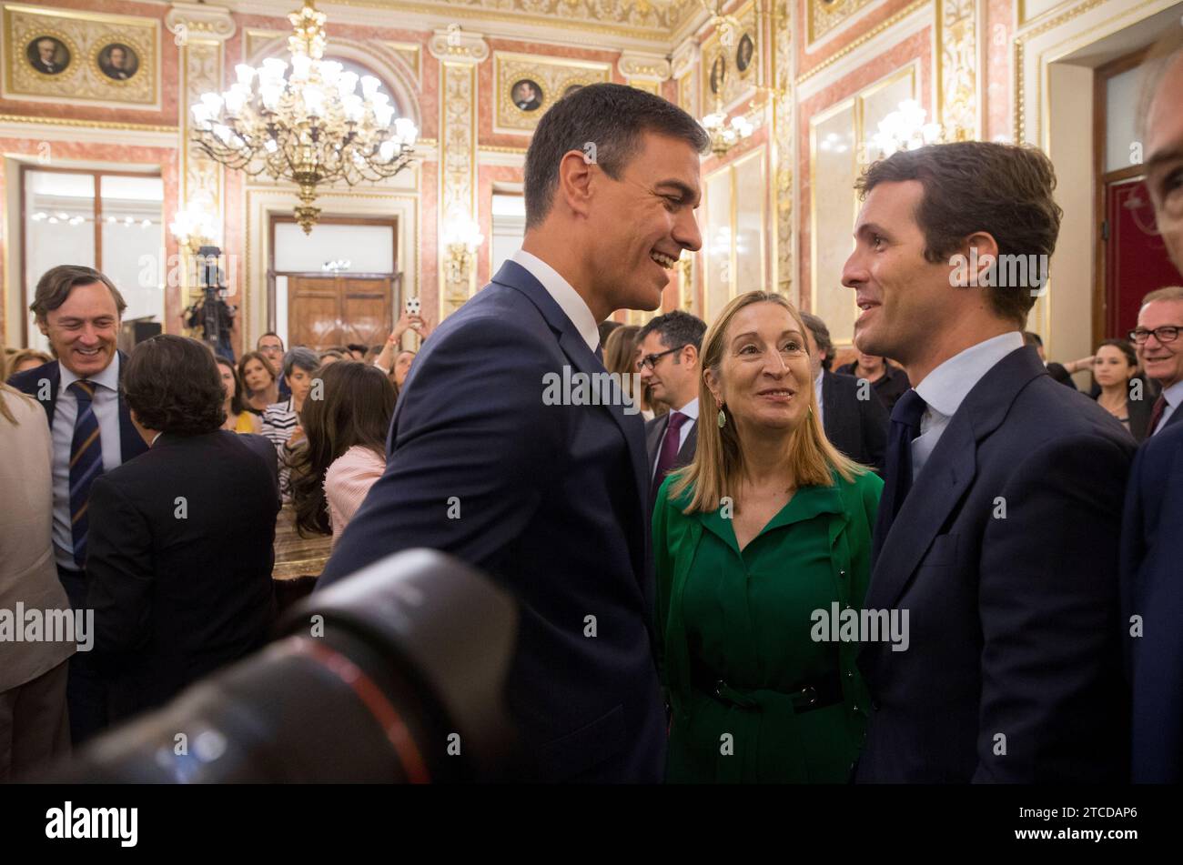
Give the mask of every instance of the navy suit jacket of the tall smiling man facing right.
M 481 568 L 521 605 L 509 702 L 526 772 L 658 781 L 644 424 L 619 398 L 544 404 L 545 377 L 564 366 L 606 375 L 543 286 L 506 262 L 415 358 L 386 474 L 319 586 L 412 547 Z

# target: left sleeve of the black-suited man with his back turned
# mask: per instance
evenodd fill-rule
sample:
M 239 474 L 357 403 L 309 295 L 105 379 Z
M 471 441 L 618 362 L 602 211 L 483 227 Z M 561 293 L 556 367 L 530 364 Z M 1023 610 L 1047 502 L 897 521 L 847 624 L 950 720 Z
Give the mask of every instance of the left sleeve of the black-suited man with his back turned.
M 144 515 L 105 477 L 90 488 L 86 605 L 95 611 L 95 649 L 135 651 L 150 637 L 155 574 Z

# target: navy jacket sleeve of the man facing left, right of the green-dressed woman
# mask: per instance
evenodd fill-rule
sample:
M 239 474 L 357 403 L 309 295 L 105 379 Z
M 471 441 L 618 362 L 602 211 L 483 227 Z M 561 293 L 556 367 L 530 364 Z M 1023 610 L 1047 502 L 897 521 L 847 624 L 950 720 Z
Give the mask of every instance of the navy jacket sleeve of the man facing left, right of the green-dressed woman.
M 1125 695 L 1110 683 L 1120 665 L 1118 545 L 1132 453 L 1133 442 L 1094 434 L 1058 440 L 997 492 L 982 539 L 975 782 L 1095 778 L 1081 754 L 1124 762 Z

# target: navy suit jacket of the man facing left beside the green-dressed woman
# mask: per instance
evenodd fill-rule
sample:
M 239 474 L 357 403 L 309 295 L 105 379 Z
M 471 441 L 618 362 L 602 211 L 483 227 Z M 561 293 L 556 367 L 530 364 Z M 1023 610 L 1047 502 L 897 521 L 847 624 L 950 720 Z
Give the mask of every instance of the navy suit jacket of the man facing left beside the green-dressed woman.
M 1124 781 L 1118 545 L 1133 438 L 1019 349 L 974 386 L 904 500 L 865 606 L 858 781 Z

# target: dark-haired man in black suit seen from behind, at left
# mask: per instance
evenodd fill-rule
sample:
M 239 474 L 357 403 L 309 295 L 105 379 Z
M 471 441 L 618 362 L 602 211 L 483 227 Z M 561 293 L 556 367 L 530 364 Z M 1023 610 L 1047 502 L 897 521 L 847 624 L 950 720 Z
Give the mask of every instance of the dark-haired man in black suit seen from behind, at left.
M 150 450 L 96 479 L 86 560 L 112 722 L 266 642 L 279 513 L 276 451 L 221 429 L 221 376 L 205 345 L 141 343 L 123 388 Z

